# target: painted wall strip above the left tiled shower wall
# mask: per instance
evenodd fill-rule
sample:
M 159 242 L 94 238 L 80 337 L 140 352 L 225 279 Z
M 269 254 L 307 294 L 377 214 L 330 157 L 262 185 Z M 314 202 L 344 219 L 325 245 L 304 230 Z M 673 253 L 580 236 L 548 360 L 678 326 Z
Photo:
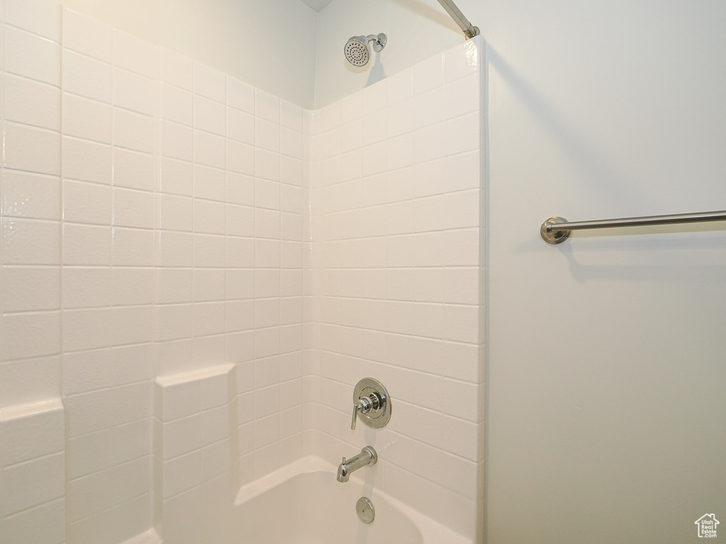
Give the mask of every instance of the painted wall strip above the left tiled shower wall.
M 302 107 L 313 107 L 317 13 L 298 0 L 63 4 Z

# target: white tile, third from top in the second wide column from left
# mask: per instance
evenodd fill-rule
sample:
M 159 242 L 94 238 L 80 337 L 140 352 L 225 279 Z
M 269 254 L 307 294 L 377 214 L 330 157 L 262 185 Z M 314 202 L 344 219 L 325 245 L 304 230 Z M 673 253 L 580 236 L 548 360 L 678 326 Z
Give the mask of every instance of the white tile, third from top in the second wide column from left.
M 111 107 L 74 94 L 65 94 L 63 133 L 67 136 L 110 144 L 113 141 Z

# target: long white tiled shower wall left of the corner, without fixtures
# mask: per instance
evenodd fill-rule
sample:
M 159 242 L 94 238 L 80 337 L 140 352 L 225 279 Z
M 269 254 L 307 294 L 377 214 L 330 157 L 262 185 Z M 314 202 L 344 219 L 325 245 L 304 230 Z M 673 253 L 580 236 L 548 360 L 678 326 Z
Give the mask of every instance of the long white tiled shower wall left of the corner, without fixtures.
M 152 524 L 155 377 L 234 363 L 242 482 L 301 455 L 303 110 L 54 1 L 0 13 L 0 407 L 16 438 L 65 408 L 65 448 L 0 458 L 5 497 L 49 482 L 2 530 L 65 496 L 68 542 L 116 543 Z

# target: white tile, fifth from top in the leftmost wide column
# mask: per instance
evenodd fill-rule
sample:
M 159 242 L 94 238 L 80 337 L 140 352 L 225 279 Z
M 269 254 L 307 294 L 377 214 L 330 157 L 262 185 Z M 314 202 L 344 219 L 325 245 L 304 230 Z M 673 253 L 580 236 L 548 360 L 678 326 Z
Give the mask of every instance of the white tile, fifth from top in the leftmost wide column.
M 17 170 L 4 170 L 3 176 L 3 215 L 60 219 L 60 178 Z

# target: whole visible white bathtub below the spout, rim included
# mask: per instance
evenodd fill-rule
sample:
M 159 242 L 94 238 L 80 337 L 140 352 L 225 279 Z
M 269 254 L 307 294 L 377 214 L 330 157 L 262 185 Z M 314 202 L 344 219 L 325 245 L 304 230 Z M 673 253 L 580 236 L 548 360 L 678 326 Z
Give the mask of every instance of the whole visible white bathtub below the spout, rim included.
M 471 544 L 399 500 L 366 486 L 356 474 L 336 481 L 337 467 L 302 458 L 243 486 L 232 514 L 236 542 L 245 544 Z M 361 496 L 375 520 L 356 515 Z

